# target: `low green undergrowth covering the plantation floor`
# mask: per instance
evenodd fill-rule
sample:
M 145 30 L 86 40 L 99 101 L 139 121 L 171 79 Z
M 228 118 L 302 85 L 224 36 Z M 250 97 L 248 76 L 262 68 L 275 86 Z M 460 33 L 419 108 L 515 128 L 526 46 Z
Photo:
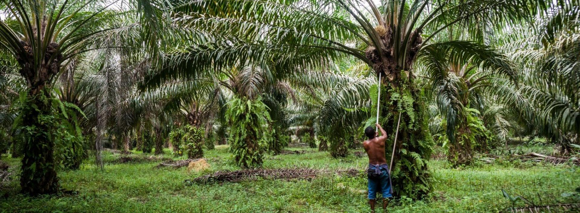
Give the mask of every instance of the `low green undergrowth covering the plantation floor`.
M 105 153 L 106 166 L 97 170 L 93 159 L 79 170 L 59 171 L 61 186 L 73 193 L 27 197 L 18 193 L 13 175 L 0 187 L 1 212 L 368 212 L 367 179 L 327 175 L 303 179 L 260 180 L 240 183 L 209 183 L 187 186 L 191 179 L 217 170 L 238 170 L 227 146 L 205 150 L 209 170 L 154 168 L 157 161 L 118 163 L 117 155 Z M 313 167 L 350 168 L 361 171 L 365 157 L 349 155 L 333 159 L 328 152 L 306 147 L 300 155 L 265 155 L 265 168 Z M 359 150 L 360 151 L 360 150 Z M 151 154 L 135 152 L 149 157 Z M 165 150 L 164 157 L 180 159 Z M 9 171 L 18 172 L 20 159 L 3 157 Z M 498 212 L 510 206 L 501 190 L 523 196 L 536 204 L 572 203 L 564 192 L 580 186 L 578 167 L 549 164 L 475 164 L 451 168 L 444 160 L 429 161 L 433 191 L 422 201 L 404 197 L 389 205 L 390 212 Z M 541 201 L 540 201 L 541 199 Z M 516 204 L 523 206 L 523 203 Z M 378 211 L 381 212 L 381 211 Z M 552 211 L 557 212 L 557 211 Z

